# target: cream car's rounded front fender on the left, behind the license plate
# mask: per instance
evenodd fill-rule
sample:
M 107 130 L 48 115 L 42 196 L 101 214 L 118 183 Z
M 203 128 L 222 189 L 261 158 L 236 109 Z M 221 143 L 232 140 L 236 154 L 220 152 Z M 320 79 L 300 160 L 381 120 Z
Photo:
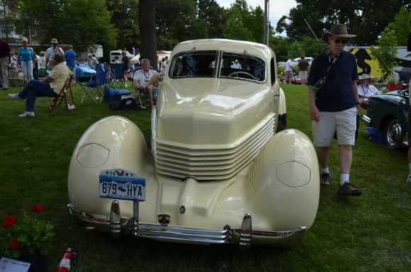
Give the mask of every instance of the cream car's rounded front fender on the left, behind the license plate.
M 68 176 L 69 199 L 80 210 L 107 214 L 111 200 L 98 197 L 101 171 L 133 171 L 146 179 L 146 187 L 157 187 L 150 164 L 152 160 L 147 153 L 145 138 L 135 123 L 120 116 L 98 120 L 84 132 L 72 154 Z M 157 193 L 157 188 L 150 191 Z M 157 196 L 146 198 L 154 201 L 152 206 L 155 208 Z M 122 202 L 123 207 L 128 207 L 123 211 L 132 214 L 131 202 Z

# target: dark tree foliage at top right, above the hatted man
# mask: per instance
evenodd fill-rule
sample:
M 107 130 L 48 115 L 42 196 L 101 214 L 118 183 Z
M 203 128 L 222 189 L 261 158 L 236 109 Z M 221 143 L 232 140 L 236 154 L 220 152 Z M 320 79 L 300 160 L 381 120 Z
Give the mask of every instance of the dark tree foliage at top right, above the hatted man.
M 373 45 L 401 7 L 410 10 L 409 0 L 296 0 L 288 16 L 283 16 L 276 31 L 285 31 L 288 38 L 300 40 L 311 35 L 308 24 L 320 38 L 335 23 L 344 23 L 357 36 L 356 45 Z

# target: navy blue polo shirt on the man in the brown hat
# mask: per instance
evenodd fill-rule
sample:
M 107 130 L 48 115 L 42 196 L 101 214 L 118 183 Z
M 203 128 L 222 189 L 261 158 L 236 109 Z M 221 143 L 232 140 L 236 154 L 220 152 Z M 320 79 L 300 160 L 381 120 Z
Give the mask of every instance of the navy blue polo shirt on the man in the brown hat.
M 314 86 L 319 79 L 323 79 L 329 66 L 330 59 L 323 51 L 313 60 L 308 85 Z M 358 71 L 355 56 L 343 50 L 332 64 L 325 84 L 315 93 L 315 106 L 319 111 L 327 112 L 345 111 L 355 107 L 352 81 L 356 79 Z

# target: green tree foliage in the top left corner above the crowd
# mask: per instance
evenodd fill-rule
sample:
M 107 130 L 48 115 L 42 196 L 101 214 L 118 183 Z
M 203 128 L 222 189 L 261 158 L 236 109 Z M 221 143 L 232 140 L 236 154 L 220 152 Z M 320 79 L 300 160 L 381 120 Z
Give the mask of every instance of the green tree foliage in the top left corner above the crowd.
M 19 0 L 10 16 L 16 33 L 28 37 L 36 32 L 40 44 L 57 38 L 79 51 L 94 44 L 116 46 L 117 30 L 110 23 L 111 15 L 104 1 Z

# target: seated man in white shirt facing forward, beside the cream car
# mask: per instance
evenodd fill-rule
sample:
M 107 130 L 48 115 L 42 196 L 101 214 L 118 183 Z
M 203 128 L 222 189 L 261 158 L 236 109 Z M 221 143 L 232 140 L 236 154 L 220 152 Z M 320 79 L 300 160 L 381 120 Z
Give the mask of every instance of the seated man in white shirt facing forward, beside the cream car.
M 149 108 L 154 104 L 152 92 L 159 85 L 159 74 L 157 71 L 150 69 L 150 60 L 141 60 L 141 67 L 142 69 L 134 73 L 133 88 L 135 91 L 143 91 L 147 94 L 150 103 L 147 108 Z

